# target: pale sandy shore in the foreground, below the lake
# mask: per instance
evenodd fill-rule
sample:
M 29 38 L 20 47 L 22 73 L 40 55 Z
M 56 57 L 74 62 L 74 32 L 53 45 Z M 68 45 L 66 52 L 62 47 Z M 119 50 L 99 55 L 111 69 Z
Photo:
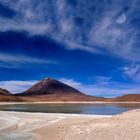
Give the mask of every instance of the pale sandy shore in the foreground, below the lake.
M 139 140 L 140 110 L 116 116 L 0 111 L 0 140 Z

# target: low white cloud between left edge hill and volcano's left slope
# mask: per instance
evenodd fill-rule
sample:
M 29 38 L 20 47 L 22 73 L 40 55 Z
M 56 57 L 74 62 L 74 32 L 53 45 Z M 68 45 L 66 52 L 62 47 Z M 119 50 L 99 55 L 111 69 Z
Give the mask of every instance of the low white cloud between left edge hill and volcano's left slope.
M 7 89 L 11 93 L 21 93 L 23 91 L 26 91 L 28 88 L 30 88 L 32 85 L 34 85 L 37 81 L 31 80 L 31 81 L 0 81 L 0 88 Z

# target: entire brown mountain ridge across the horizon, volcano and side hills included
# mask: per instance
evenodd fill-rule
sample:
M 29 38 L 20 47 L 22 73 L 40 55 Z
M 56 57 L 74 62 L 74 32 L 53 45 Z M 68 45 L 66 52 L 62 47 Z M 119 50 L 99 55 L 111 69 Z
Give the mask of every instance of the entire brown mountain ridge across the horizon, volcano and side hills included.
M 125 94 L 115 98 L 86 95 L 53 78 L 45 78 L 26 91 L 12 94 L 0 88 L 0 101 L 10 102 L 140 102 L 140 94 Z

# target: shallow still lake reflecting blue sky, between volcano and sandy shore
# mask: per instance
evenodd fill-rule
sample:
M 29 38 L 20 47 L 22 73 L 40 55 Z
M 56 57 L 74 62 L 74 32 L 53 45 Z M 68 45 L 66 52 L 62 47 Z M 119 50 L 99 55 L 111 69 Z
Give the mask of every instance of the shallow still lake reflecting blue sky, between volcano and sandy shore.
M 140 109 L 139 103 L 93 104 L 8 104 L 0 105 L 1 111 L 115 115 L 131 109 Z

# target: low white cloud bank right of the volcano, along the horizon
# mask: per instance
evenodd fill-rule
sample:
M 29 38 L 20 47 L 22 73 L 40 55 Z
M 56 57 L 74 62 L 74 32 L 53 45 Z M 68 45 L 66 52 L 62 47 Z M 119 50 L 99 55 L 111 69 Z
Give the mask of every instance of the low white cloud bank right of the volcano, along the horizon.
M 105 77 L 104 77 L 105 78 Z M 107 78 L 108 79 L 108 78 Z M 86 93 L 88 95 L 93 96 L 101 96 L 101 97 L 116 97 L 121 96 L 124 94 L 134 94 L 134 93 L 140 93 L 140 87 L 139 85 L 133 85 L 133 84 L 123 84 L 118 82 L 112 82 L 112 81 L 106 81 L 105 84 L 104 80 L 97 81 L 93 84 L 84 84 L 81 82 L 77 82 L 74 79 L 60 79 L 60 81 L 77 88 L 83 93 Z

